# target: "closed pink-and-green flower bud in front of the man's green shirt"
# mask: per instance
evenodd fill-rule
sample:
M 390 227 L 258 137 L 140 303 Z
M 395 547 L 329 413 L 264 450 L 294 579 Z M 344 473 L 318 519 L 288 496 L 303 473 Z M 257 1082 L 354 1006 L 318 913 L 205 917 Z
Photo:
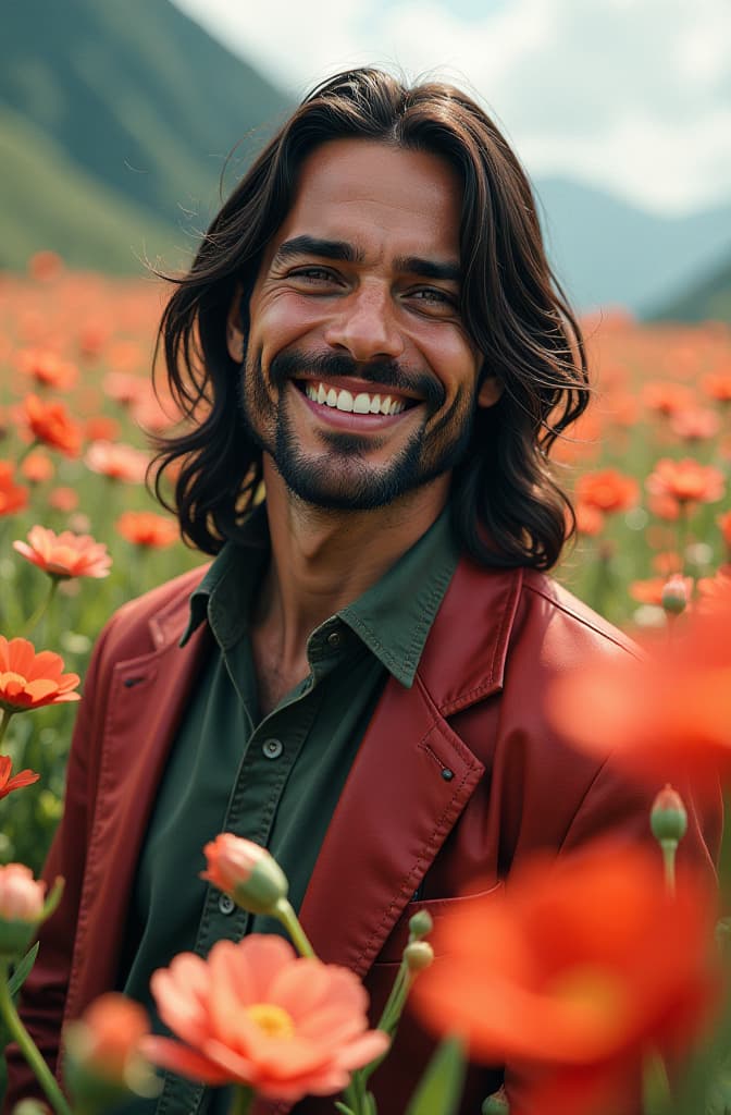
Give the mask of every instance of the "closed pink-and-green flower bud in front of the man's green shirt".
M 221 833 L 203 852 L 208 866 L 201 879 L 230 894 L 242 910 L 272 913 L 286 898 L 286 875 L 265 847 L 233 833 Z

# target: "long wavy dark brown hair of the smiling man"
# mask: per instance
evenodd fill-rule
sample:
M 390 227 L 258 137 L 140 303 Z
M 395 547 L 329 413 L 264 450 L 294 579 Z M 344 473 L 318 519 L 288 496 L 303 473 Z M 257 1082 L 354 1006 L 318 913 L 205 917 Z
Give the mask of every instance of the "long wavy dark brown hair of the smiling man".
M 318 86 L 266 145 L 214 219 L 187 274 L 173 280 L 158 346 L 191 428 L 158 443 L 155 491 L 175 463 L 182 531 L 206 553 L 235 537 L 262 478 L 261 450 L 242 428 L 238 366 L 226 318 L 242 304 L 264 246 L 289 212 L 306 156 L 328 140 L 376 139 L 446 159 L 462 183 L 462 320 L 503 385 L 478 408 L 450 506 L 462 547 L 487 565 L 550 568 L 571 504 L 548 450 L 584 410 L 588 378 L 578 323 L 548 265 L 536 203 L 515 154 L 485 112 L 441 83 L 407 88 L 377 69 Z

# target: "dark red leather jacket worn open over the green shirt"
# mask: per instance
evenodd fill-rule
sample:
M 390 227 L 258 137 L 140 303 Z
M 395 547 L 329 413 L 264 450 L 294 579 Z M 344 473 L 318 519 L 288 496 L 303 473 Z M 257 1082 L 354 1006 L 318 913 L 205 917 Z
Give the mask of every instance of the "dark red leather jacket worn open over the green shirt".
M 140 843 L 208 638 L 204 626 L 178 647 L 201 575 L 125 605 L 105 628 L 86 677 L 65 815 L 46 867 L 48 879 L 65 876 L 66 892 L 43 927 L 22 1008 L 51 1060 L 61 1022 L 117 981 Z M 465 889 L 499 889 L 511 865 L 539 847 L 565 852 L 607 832 L 649 838 L 652 794 L 625 783 L 611 760 L 597 764 L 565 747 L 544 718 L 550 677 L 594 652 L 611 658 L 631 647 L 550 579 L 465 560 L 412 688 L 389 679 L 301 911 L 319 956 L 366 978 L 374 1015 L 416 909 L 438 919 Z M 688 804 L 681 854 L 711 872 L 720 809 L 701 825 Z M 415 903 L 420 883 L 423 899 Z M 396 1055 L 372 1078 L 379 1115 L 402 1115 L 429 1047 L 407 1018 Z M 470 1070 L 465 1115 L 479 1112 L 500 1079 L 500 1070 Z M 508 1073 L 508 1093 L 510 1086 Z M 3 1109 L 28 1090 L 28 1074 L 11 1056 Z M 313 1115 L 333 1109 L 331 1099 L 298 1107 Z M 257 1106 L 257 1115 L 286 1111 Z

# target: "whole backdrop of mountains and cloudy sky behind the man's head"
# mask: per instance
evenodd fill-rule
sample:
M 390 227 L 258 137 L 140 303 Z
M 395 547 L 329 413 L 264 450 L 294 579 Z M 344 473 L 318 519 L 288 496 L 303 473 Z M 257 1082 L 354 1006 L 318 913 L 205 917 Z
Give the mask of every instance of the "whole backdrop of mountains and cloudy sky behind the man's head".
M 486 105 L 579 310 L 731 320 L 728 0 L 7 3 L 0 269 L 179 266 L 308 88 L 366 62 Z

